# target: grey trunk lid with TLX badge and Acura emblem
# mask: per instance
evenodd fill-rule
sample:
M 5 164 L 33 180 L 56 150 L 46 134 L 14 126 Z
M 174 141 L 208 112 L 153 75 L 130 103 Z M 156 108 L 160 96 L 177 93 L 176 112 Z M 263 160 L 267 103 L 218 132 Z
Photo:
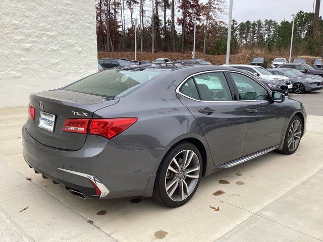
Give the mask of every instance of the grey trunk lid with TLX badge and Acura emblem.
M 51 90 L 31 94 L 30 105 L 35 108 L 35 119 L 28 118 L 27 131 L 39 143 L 59 149 L 78 150 L 82 148 L 87 135 L 62 131 L 67 118 L 91 118 L 103 107 L 113 105 L 119 99 L 66 90 Z M 40 109 L 42 103 L 42 110 Z M 38 127 L 40 113 L 55 115 L 53 132 Z

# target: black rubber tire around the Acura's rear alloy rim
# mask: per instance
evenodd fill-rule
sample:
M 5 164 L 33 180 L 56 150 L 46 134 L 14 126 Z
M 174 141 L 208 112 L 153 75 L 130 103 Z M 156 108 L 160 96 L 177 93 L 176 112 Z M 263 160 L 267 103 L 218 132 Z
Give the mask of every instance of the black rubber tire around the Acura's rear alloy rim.
M 181 151 L 184 150 L 191 150 L 193 151 L 197 158 L 198 158 L 198 163 L 199 163 L 199 172 L 198 172 L 198 179 L 197 183 L 195 185 L 194 190 L 190 193 L 189 196 L 187 196 L 184 200 L 182 201 L 174 201 L 171 199 L 166 191 L 166 175 L 168 172 L 168 167 L 171 164 L 173 158 L 176 157 L 177 154 L 179 154 Z M 196 161 L 196 160 L 195 160 Z M 181 142 L 172 147 L 169 152 L 165 155 L 164 159 L 161 161 L 157 174 L 156 174 L 156 179 L 155 179 L 155 184 L 154 184 L 154 190 L 152 193 L 152 198 L 157 201 L 160 204 L 163 204 L 167 207 L 180 207 L 187 203 L 195 194 L 197 187 L 200 183 L 201 177 L 202 177 L 202 157 L 200 154 L 200 151 L 194 146 L 193 144 L 189 142 Z M 187 178 L 187 177 L 186 177 Z

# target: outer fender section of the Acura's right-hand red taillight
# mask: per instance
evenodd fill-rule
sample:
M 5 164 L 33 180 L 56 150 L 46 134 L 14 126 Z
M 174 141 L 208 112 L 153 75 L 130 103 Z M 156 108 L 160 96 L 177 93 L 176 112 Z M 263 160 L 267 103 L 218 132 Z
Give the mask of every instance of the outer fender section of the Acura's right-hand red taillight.
M 128 129 L 136 121 L 136 117 L 91 119 L 88 133 L 100 135 L 110 140 Z

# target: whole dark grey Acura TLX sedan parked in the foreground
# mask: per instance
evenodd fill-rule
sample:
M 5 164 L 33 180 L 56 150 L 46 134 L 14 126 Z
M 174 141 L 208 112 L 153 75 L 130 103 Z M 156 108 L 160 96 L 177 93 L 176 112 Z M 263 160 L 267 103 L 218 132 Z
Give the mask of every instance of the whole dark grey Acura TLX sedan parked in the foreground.
M 30 95 L 29 166 L 82 198 L 189 201 L 202 176 L 267 152 L 293 154 L 303 105 L 225 66 L 144 64 Z

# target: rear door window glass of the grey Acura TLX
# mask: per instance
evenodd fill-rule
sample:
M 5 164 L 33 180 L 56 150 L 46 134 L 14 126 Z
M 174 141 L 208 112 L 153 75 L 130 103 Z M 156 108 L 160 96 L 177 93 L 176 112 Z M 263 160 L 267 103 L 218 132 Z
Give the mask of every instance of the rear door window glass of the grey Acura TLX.
M 222 72 L 205 73 L 194 76 L 201 100 L 232 101 L 227 79 Z

